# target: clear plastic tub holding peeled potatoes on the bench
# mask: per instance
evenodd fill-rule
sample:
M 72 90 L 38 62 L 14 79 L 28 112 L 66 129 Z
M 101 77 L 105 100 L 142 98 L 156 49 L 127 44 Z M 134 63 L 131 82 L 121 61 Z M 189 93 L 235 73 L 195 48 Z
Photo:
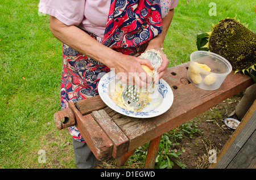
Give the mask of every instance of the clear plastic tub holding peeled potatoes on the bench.
M 187 77 L 196 87 L 212 91 L 220 88 L 231 71 L 230 63 L 220 55 L 197 51 L 190 55 Z

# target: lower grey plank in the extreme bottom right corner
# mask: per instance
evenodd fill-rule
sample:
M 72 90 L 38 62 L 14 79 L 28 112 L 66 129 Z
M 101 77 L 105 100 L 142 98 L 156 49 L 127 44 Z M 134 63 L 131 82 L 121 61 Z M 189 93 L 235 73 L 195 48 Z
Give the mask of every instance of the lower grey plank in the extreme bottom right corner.
M 254 119 L 255 120 L 255 119 Z M 227 169 L 255 169 L 256 168 L 256 131 L 227 166 Z

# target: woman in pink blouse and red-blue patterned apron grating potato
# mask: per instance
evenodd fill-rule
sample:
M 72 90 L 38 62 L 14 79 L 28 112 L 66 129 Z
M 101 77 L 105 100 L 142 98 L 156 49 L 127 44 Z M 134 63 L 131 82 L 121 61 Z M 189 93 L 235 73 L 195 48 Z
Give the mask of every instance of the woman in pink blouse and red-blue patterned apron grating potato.
M 177 2 L 40 0 L 39 11 L 49 15 L 53 36 L 63 42 L 61 109 L 67 108 L 70 100 L 98 95 L 100 73 L 110 68 L 122 83 L 146 87 L 152 78 L 141 65 L 152 66 L 148 59 L 138 57 L 145 50 L 156 49 L 162 54 L 158 69 L 158 78 L 162 78 L 169 62 L 162 51 L 163 42 Z M 145 76 L 140 76 L 143 73 Z M 98 160 L 80 132 L 76 126 L 69 131 L 77 168 L 93 168 Z

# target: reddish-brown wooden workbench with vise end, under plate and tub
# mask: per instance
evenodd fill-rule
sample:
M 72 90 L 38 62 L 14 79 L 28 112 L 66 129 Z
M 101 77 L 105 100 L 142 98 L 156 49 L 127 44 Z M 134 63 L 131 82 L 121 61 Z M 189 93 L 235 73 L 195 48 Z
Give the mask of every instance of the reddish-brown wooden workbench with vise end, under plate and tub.
M 250 76 L 232 71 L 219 89 L 207 91 L 189 83 L 187 69 L 188 63 L 168 68 L 163 79 L 172 88 L 174 102 L 158 117 L 127 117 L 106 106 L 100 96 L 95 96 L 75 103 L 69 101 L 69 108 L 55 113 L 56 127 L 61 130 L 76 125 L 98 160 L 113 156 L 119 166 L 135 149 L 150 142 L 144 168 L 154 168 L 162 134 L 254 83 Z

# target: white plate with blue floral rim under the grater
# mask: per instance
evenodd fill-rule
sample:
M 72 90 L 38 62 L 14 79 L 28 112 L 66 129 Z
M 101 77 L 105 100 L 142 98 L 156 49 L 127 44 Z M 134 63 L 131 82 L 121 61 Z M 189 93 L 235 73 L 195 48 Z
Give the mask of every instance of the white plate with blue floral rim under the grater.
M 113 71 L 108 72 L 98 83 L 98 93 L 100 94 L 102 101 L 104 101 L 109 108 L 123 115 L 135 118 L 156 117 L 170 109 L 172 102 L 174 102 L 174 94 L 170 85 L 168 85 L 163 79 L 160 79 L 159 83 L 155 85 L 157 90 L 154 94 L 151 94 L 151 102 L 146 105 L 141 112 L 124 109 L 115 104 L 115 102 L 109 97 L 109 93 L 113 92 L 115 83 L 117 82 L 119 82 L 118 76 L 115 75 Z

